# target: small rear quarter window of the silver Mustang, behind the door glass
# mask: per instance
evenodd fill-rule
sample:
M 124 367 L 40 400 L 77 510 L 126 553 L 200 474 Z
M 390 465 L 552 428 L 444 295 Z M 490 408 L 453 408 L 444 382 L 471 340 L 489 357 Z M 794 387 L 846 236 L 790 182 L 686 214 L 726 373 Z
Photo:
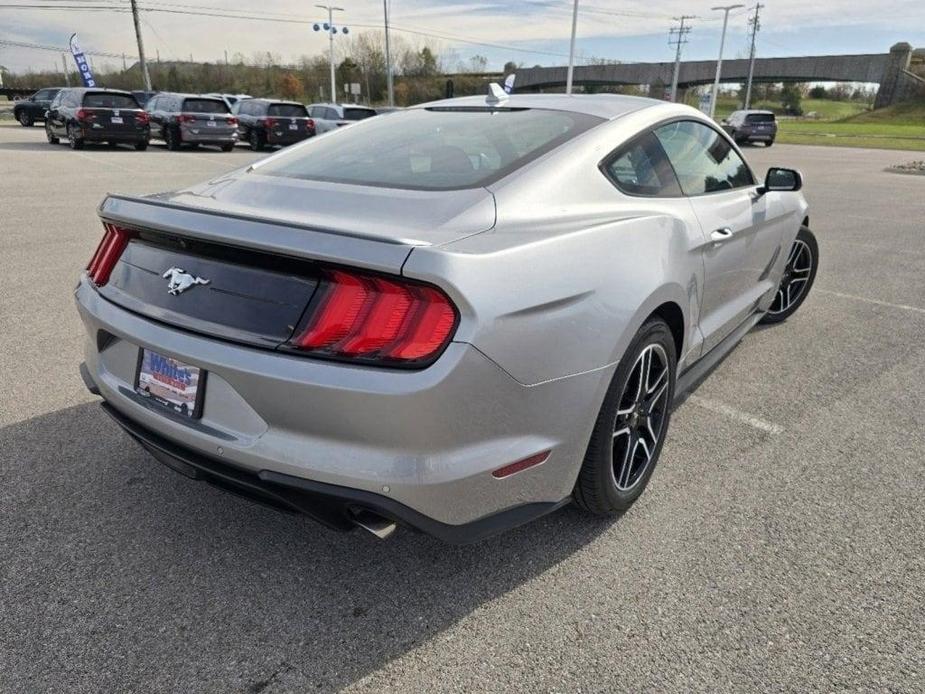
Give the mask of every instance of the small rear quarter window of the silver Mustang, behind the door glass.
M 680 197 L 681 187 L 655 135 L 645 133 L 617 150 L 604 164 L 608 178 L 628 195 Z

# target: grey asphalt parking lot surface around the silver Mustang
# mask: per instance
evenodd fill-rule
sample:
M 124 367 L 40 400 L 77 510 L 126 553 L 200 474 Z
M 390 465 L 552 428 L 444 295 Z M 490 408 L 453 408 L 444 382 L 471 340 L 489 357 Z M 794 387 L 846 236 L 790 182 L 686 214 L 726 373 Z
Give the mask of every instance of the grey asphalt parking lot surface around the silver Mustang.
M 925 690 L 925 177 L 806 176 L 821 267 L 676 413 L 618 520 L 473 546 L 340 535 L 191 482 L 78 376 L 107 191 L 257 155 L 72 152 L 0 127 L 0 691 Z

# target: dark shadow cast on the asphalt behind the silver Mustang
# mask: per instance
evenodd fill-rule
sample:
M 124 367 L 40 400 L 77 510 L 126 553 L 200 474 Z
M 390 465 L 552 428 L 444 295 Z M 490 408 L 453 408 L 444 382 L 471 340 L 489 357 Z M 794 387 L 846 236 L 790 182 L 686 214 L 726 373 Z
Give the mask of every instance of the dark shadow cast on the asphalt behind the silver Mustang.
M 95 403 L 0 429 L 0 501 L 4 691 L 339 689 L 613 523 L 334 533 L 175 474 Z

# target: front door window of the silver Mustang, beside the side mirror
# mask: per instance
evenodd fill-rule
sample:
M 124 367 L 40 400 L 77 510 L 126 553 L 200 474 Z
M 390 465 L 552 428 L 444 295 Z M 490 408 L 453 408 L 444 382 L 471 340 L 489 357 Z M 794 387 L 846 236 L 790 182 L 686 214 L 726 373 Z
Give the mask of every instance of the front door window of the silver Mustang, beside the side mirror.
M 748 166 L 713 128 L 678 121 L 655 130 L 685 195 L 703 195 L 755 184 Z

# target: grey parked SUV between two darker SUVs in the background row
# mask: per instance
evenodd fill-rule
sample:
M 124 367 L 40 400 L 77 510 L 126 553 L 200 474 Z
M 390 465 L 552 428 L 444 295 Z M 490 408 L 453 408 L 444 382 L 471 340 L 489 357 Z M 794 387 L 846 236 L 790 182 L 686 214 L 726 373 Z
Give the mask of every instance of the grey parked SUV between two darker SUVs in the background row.
M 230 152 L 238 139 L 238 119 L 222 99 L 201 94 L 161 92 L 145 105 L 151 119 L 151 137 L 167 149 L 183 145 L 215 145 Z

